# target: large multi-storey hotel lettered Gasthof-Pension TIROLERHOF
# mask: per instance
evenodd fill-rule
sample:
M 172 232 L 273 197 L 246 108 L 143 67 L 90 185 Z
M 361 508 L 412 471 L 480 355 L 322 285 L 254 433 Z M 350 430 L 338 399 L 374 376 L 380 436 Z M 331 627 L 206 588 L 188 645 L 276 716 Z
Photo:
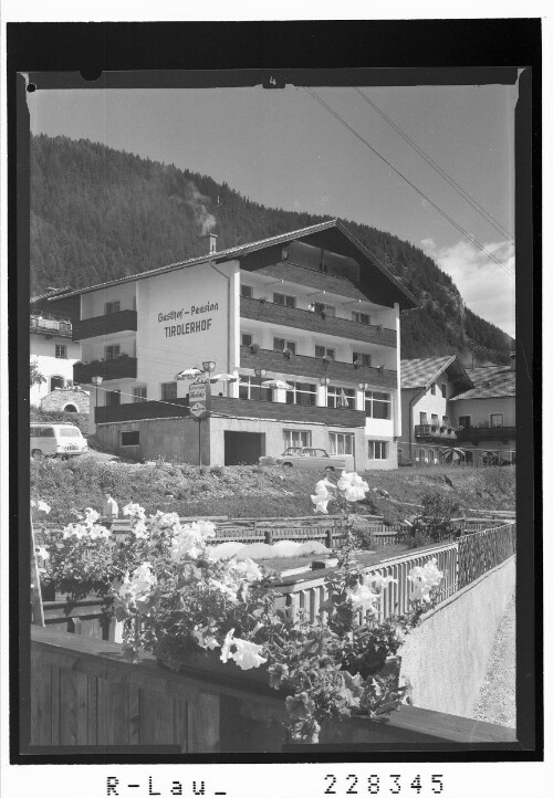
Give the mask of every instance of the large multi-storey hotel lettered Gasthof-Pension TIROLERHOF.
M 222 251 L 210 235 L 205 255 L 62 302 L 79 303 L 74 381 L 113 450 L 215 465 L 311 445 L 397 465 L 399 313 L 417 303 L 337 221 Z M 223 376 L 198 424 L 176 375 L 206 361 Z

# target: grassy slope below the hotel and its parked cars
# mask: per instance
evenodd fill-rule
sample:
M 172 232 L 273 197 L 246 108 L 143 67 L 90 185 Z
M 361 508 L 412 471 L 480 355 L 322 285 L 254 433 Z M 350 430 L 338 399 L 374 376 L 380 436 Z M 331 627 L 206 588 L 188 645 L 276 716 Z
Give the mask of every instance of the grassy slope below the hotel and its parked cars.
M 453 487 L 444 482 L 446 474 Z M 105 491 L 115 496 L 119 510 L 128 502 L 139 502 L 148 513 L 163 510 L 180 515 L 296 516 L 312 515 L 310 494 L 322 475 L 257 465 L 198 469 L 175 463 L 136 464 L 87 454 L 69 461 L 31 461 L 31 493 L 52 505 L 54 522 L 71 521 L 72 510 L 101 510 Z M 386 490 L 400 502 L 416 504 L 422 494 L 437 491 L 457 500 L 462 508 L 514 508 L 512 468 L 428 466 L 374 471 L 365 476 L 372 489 Z M 365 507 L 390 523 L 414 512 L 373 492 Z

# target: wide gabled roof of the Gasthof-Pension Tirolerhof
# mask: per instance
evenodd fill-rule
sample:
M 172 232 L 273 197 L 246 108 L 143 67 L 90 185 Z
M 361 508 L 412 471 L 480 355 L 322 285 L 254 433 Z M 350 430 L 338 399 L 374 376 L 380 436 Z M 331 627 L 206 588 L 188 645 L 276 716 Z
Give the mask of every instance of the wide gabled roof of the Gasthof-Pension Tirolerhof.
M 221 261 L 240 260 L 246 255 L 260 250 L 269 249 L 270 246 L 276 246 L 279 244 L 285 244 L 290 241 L 304 240 L 306 243 L 314 245 L 327 246 L 328 250 L 345 254 L 352 258 L 356 258 L 362 265 L 366 266 L 371 271 L 371 282 L 374 283 L 375 290 L 380 294 L 386 293 L 389 300 L 398 302 L 400 309 L 409 309 L 418 307 L 416 297 L 407 291 L 407 288 L 397 280 L 392 272 L 380 261 L 369 252 L 354 235 L 347 230 L 342 222 L 337 219 L 331 221 L 320 222 L 319 224 L 312 224 L 301 230 L 294 230 L 288 233 L 280 233 L 279 235 L 271 235 L 260 241 L 252 241 L 249 244 L 240 244 L 239 246 L 231 246 L 227 250 L 220 250 L 210 254 L 200 255 L 198 258 L 191 258 L 187 261 L 179 261 L 177 263 L 170 263 L 166 266 L 159 266 L 158 269 L 152 269 L 147 272 L 139 272 L 126 277 L 118 277 L 116 280 L 109 280 L 104 283 L 91 285 L 79 291 L 64 293 L 64 296 L 75 296 L 79 294 L 86 294 L 91 291 L 97 291 L 100 288 L 106 288 L 112 285 L 118 285 L 121 283 L 128 283 L 135 280 L 145 280 L 147 277 L 155 276 L 156 274 L 164 274 L 165 272 L 171 272 L 179 269 L 189 269 L 191 266 L 199 265 L 201 263 L 219 263 Z M 363 279 L 363 269 L 362 269 Z M 52 297 L 55 298 L 55 297 Z

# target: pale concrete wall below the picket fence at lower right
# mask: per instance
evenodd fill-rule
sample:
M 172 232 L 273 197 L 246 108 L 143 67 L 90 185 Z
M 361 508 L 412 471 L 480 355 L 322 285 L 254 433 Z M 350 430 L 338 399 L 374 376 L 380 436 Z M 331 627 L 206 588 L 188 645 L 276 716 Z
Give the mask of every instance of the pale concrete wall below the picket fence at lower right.
M 406 639 L 401 678 L 413 704 L 471 717 L 493 641 L 515 587 L 515 558 L 431 610 Z

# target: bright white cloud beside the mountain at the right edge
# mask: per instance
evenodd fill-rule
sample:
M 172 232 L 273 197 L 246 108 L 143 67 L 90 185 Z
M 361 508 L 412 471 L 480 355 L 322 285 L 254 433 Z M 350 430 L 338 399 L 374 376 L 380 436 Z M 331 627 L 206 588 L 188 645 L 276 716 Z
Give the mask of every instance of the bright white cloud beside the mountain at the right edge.
M 470 241 L 438 246 L 434 239 L 420 245 L 439 267 L 450 275 L 467 307 L 514 337 L 514 244 L 508 241 L 484 244 L 502 266 Z

